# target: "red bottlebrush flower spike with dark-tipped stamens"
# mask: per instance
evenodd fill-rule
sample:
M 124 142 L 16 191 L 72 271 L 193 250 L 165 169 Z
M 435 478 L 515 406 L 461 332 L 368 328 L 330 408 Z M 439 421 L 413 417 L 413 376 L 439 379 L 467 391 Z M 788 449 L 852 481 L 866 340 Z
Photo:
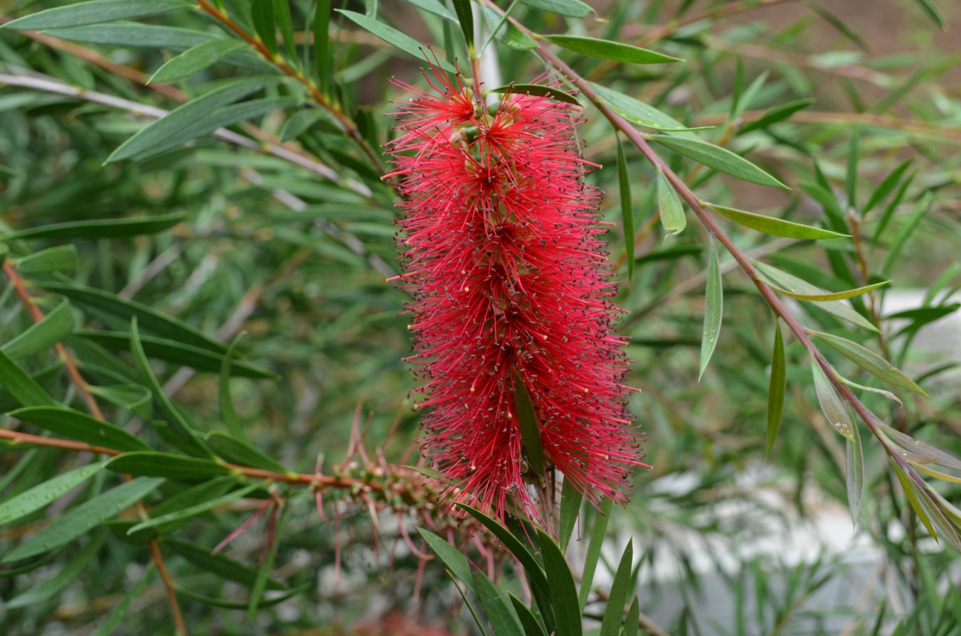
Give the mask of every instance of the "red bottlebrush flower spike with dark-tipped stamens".
M 520 390 L 544 464 L 593 501 L 625 501 L 641 440 L 577 107 L 510 93 L 487 107 L 459 76 L 425 78 L 429 90 L 399 84 L 414 97 L 389 146 L 423 451 L 460 501 L 534 512 Z

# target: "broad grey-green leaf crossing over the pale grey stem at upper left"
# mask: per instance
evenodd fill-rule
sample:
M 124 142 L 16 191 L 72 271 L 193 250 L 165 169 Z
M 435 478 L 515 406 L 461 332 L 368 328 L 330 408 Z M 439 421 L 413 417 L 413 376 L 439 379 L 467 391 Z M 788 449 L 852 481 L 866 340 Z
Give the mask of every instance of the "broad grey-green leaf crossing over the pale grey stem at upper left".
M 275 79 L 269 79 L 269 83 L 274 82 Z M 238 80 L 192 99 L 140 129 L 120 144 L 106 162 L 153 157 L 191 139 L 209 135 L 221 126 L 234 124 L 238 120 L 222 116 L 221 110 L 259 91 L 267 83 L 266 79 Z

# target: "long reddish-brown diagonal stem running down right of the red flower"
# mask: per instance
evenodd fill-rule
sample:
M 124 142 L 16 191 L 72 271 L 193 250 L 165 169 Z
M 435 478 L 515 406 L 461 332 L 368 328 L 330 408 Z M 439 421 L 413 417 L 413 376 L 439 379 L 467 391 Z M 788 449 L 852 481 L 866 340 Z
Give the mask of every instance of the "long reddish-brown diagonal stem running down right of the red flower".
M 495 11 L 501 12 L 500 9 L 493 0 L 484 0 L 488 6 L 494 8 Z M 526 33 L 530 37 L 534 37 L 534 34 L 525 27 L 523 24 L 515 20 L 514 18 L 508 18 L 518 29 Z M 536 39 L 536 38 L 535 38 Z M 537 54 L 546 61 L 550 66 L 553 66 L 555 70 L 559 71 L 567 79 L 571 81 L 574 86 L 577 86 L 581 94 L 586 97 L 597 110 L 600 110 L 604 117 L 614 126 L 615 129 L 621 131 L 628 139 L 633 143 L 641 154 L 647 158 L 654 167 L 658 168 L 664 173 L 664 177 L 668 180 L 668 183 L 678 192 L 678 196 L 694 210 L 694 213 L 701 220 L 703 226 L 714 234 L 714 236 L 724 245 L 727 252 L 730 253 L 734 260 L 741 266 L 741 269 L 748 275 L 748 277 L 757 287 L 764 300 L 771 306 L 772 310 L 784 321 L 784 324 L 788 326 L 795 334 L 795 337 L 801 342 L 801 345 L 808 351 L 811 358 L 817 362 L 818 366 L 822 368 L 825 372 L 825 376 L 834 385 L 835 390 L 841 395 L 841 397 L 851 405 L 858 416 L 864 421 L 865 425 L 871 430 L 875 435 L 875 438 L 880 442 L 881 446 L 884 448 L 885 452 L 891 456 L 892 460 L 899 466 L 899 468 L 905 471 L 906 474 L 911 474 L 915 476 L 914 470 L 910 465 L 900 456 L 900 453 L 896 453 L 891 447 L 891 443 L 884 437 L 883 433 L 877 427 L 875 422 L 875 417 L 872 415 L 868 408 L 861 404 L 861 401 L 851 392 L 847 384 L 838 379 L 834 372 L 833 367 L 827 361 L 824 355 L 818 351 L 818 348 L 808 337 L 804 327 L 795 318 L 794 314 L 780 301 L 776 296 L 774 290 L 771 289 L 758 275 L 757 271 L 751 262 L 751 259 L 741 251 L 737 245 L 730 239 L 727 232 L 721 229 L 721 226 L 717 224 L 714 217 L 707 211 L 704 207 L 703 202 L 698 198 L 698 196 L 691 190 L 686 183 L 684 183 L 671 167 L 661 159 L 657 153 L 653 151 L 651 146 L 645 140 L 644 135 L 641 135 L 624 117 L 620 116 L 613 110 L 610 110 L 605 104 L 604 100 L 595 92 L 594 88 L 582 78 L 577 71 L 567 65 L 564 61 L 558 58 L 554 53 L 542 42 L 538 41 L 537 44 Z

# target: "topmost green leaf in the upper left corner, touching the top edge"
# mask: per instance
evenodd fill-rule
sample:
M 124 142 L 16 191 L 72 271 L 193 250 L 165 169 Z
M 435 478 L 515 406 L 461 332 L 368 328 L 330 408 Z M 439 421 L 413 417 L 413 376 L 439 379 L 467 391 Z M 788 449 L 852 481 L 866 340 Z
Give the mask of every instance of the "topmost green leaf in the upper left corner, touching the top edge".
M 84 24 L 150 17 L 177 9 L 190 9 L 191 6 L 184 0 L 93 0 L 31 13 L 8 22 L 3 28 L 26 31 L 78 27 Z

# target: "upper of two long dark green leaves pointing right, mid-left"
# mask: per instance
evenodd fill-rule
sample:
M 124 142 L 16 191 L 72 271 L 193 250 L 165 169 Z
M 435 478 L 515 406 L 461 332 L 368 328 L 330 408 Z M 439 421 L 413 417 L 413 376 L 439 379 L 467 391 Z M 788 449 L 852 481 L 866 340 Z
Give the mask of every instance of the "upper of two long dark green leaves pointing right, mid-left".
M 48 281 L 37 281 L 36 284 L 47 291 L 66 296 L 73 301 L 74 305 L 87 309 L 91 313 L 96 313 L 98 318 L 108 316 L 129 323 L 131 318 L 136 317 L 137 324 L 149 333 L 185 345 L 206 349 L 219 355 L 227 353 L 227 345 L 214 340 L 203 331 L 136 301 L 120 298 L 102 289 L 79 284 Z M 217 369 L 219 369 L 219 365 Z

